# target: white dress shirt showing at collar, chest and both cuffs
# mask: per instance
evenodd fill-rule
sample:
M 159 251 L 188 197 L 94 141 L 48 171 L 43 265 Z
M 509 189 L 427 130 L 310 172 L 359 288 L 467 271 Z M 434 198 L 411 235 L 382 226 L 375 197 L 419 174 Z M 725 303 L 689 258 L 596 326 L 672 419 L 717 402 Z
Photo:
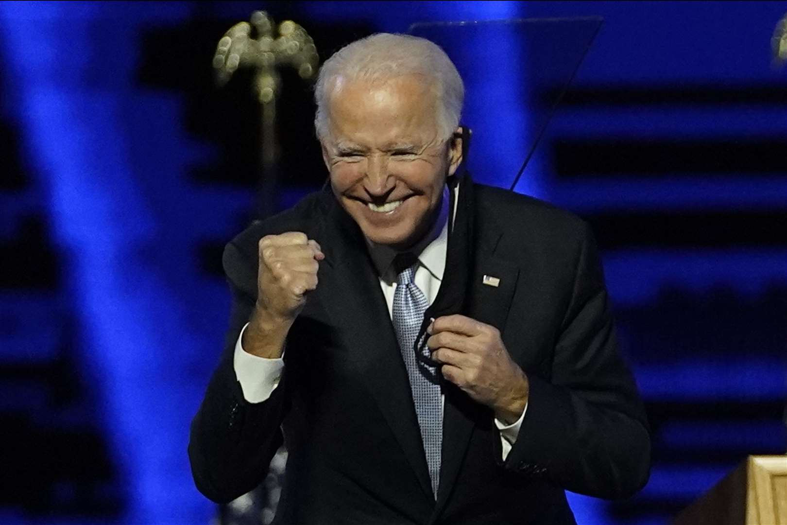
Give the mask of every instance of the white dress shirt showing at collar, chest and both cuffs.
M 415 276 L 416 286 L 427 297 L 430 305 L 438 295 L 443 272 L 445 271 L 445 257 L 448 253 L 448 208 L 449 190 L 448 187 L 445 187 L 438 220 L 435 221 L 430 234 L 422 242 L 413 246 L 412 250 L 413 253 L 419 253 L 419 266 L 416 268 Z M 456 209 L 454 213 L 456 213 Z M 393 318 L 393 294 L 397 287 L 397 275 L 393 270 L 393 258 L 396 257 L 397 252 L 389 246 L 376 245 L 373 242 L 367 243 L 371 260 L 375 264 L 378 275 L 380 275 L 380 287 L 382 288 L 382 294 L 386 298 L 388 313 Z M 246 326 L 243 327 L 241 334 L 238 336 L 238 342 L 235 343 L 235 357 L 233 360 L 235 376 L 238 378 L 238 383 L 241 384 L 243 397 L 246 401 L 249 401 L 249 403 L 261 403 L 267 400 L 276 386 L 279 385 L 279 379 L 284 369 L 284 360 L 283 358 L 266 359 L 257 357 L 244 351 L 241 341 L 243 332 L 246 331 Z M 445 395 L 442 396 L 442 401 L 445 403 Z M 501 434 L 503 460 L 508 457 L 508 452 L 519 435 L 519 427 L 522 426 L 526 412 L 527 405 L 525 405 L 519 420 L 510 425 L 497 419 L 494 421 Z

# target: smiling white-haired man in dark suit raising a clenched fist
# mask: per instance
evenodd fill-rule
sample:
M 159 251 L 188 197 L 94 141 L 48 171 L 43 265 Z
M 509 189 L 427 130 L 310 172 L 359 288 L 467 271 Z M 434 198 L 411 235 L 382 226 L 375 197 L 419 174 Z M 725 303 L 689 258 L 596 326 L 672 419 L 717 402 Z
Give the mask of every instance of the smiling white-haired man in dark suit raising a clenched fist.
M 277 523 L 575 523 L 564 489 L 644 485 L 588 228 L 456 174 L 463 98 L 424 39 L 323 65 L 330 187 L 224 251 L 231 326 L 189 446 L 207 497 L 251 490 L 282 442 Z

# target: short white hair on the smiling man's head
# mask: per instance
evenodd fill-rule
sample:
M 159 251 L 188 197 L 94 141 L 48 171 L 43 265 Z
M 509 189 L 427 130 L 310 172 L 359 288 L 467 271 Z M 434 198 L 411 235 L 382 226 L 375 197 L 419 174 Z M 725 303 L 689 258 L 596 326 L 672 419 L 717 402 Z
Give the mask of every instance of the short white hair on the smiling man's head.
M 411 35 L 377 33 L 342 47 L 331 56 L 317 77 L 314 98 L 317 138 L 329 134 L 328 102 L 339 77 L 353 80 L 384 81 L 398 76 L 423 75 L 431 80 L 438 102 L 438 134 L 449 139 L 459 125 L 464 102 L 464 83 L 456 66 L 440 46 Z

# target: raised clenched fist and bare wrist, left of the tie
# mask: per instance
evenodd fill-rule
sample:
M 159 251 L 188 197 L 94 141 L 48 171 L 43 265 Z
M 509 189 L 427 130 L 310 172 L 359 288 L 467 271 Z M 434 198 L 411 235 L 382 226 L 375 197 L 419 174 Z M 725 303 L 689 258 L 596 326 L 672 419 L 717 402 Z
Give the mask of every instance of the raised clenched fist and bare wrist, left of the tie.
M 301 231 L 265 235 L 259 243 L 257 305 L 242 346 L 259 357 L 281 357 L 287 331 L 317 287 L 320 245 Z

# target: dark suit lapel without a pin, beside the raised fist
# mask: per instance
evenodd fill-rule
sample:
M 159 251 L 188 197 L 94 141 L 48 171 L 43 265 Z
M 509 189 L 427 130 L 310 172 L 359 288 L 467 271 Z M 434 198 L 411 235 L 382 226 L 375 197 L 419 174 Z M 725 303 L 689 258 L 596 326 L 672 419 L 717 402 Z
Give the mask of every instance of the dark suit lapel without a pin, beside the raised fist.
M 331 196 L 331 199 L 333 197 Z M 379 278 L 357 225 L 334 202 L 319 242 L 321 297 L 345 337 L 349 360 L 364 379 L 424 494 L 434 501 L 409 379 Z M 337 301 L 337 298 L 342 298 Z

